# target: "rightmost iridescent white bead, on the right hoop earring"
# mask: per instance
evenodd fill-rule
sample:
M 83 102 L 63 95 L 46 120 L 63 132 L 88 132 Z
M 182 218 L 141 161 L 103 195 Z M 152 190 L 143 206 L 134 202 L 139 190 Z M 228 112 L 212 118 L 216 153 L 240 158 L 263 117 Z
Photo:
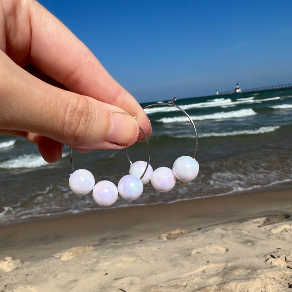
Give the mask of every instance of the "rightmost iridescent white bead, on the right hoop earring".
M 190 182 L 197 177 L 199 164 L 190 156 L 181 156 L 174 162 L 172 171 L 181 182 Z

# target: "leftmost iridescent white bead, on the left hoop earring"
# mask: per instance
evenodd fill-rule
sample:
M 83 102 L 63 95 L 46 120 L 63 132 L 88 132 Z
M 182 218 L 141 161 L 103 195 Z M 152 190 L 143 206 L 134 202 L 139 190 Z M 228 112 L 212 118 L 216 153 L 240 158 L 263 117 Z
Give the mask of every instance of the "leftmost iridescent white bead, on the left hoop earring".
M 77 169 L 69 178 L 69 186 L 73 193 L 86 195 L 93 189 L 95 180 L 93 174 L 87 169 Z

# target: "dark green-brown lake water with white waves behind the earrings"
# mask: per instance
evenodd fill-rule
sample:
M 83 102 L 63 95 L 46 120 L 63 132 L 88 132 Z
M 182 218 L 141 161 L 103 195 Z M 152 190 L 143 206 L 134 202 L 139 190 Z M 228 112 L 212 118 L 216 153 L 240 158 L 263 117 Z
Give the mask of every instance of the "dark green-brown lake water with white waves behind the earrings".
M 197 128 L 198 177 L 189 183 L 177 181 L 167 193 L 149 183 L 138 200 L 119 198 L 110 208 L 292 189 L 292 90 L 178 99 L 176 104 L 187 111 Z M 159 106 L 146 113 L 153 127 L 149 139 L 153 169 L 171 168 L 179 156 L 192 156 L 194 131 L 181 111 Z M 147 151 L 146 143 L 128 148 L 133 162 L 146 160 Z M 124 150 L 74 151 L 73 164 L 75 169 L 89 169 L 96 182 L 116 184 L 129 169 Z M 71 192 L 70 173 L 68 146 L 59 162 L 48 164 L 37 146 L 0 135 L 0 225 L 104 210 L 91 194 Z

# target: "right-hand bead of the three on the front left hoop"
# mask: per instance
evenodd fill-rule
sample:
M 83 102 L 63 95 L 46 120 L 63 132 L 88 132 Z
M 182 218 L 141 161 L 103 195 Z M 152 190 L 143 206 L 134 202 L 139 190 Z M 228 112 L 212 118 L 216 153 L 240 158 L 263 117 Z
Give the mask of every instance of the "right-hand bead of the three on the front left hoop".
M 125 175 L 118 183 L 118 192 L 125 200 L 136 200 L 143 192 L 143 183 L 132 174 Z

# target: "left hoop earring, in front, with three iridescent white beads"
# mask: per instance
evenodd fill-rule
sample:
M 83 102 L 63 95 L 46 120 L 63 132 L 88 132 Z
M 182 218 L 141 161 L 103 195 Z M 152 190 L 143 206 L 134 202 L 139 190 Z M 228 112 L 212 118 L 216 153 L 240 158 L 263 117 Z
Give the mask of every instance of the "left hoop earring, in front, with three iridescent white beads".
M 144 166 L 144 171 L 140 176 L 128 174 L 122 177 L 116 187 L 116 185 L 110 181 L 100 181 L 95 184 L 93 174 L 87 169 L 74 170 L 72 163 L 72 146 L 70 146 L 69 158 L 73 173 L 70 174 L 69 186 L 73 193 L 77 195 L 86 195 L 92 192 L 93 200 L 100 206 L 108 207 L 112 205 L 118 199 L 118 193 L 120 196 L 128 201 L 138 199 L 144 189 L 142 179 L 147 173 L 150 163 L 150 145 L 144 130 L 139 127 L 145 136 L 148 146 L 148 161 Z

